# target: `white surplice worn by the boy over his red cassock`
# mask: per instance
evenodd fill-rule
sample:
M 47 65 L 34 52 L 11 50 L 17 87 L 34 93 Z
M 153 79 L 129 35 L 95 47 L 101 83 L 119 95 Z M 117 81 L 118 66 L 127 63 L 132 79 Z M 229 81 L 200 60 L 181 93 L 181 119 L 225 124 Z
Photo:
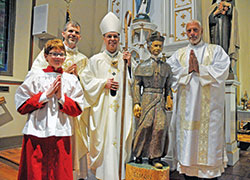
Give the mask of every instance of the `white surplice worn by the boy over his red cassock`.
M 21 107 L 24 102 L 39 92 L 46 93 L 58 75 L 59 73 L 45 73 L 43 70 L 30 71 L 25 81 L 16 91 L 16 109 Z M 63 73 L 61 81 L 62 95 L 66 94 L 83 109 L 83 90 L 78 79 L 72 74 Z M 42 96 L 43 94 L 41 97 Z M 64 96 L 62 96 L 62 98 L 63 97 Z M 50 136 L 71 136 L 72 124 L 73 117 L 59 110 L 58 99 L 54 95 L 47 100 L 43 108 L 29 113 L 23 133 L 40 138 Z

